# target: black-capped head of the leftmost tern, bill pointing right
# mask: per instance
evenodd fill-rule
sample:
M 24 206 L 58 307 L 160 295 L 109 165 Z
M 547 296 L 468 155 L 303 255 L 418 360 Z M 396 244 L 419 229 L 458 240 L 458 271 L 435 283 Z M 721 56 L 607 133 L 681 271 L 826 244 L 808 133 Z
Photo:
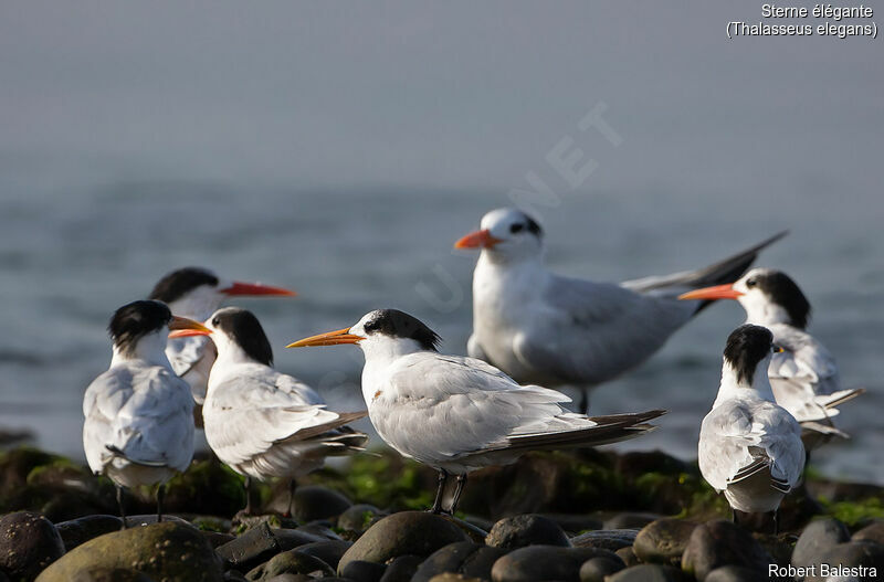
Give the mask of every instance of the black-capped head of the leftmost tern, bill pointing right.
M 209 330 L 197 321 L 173 316 L 169 307 L 150 299 L 126 304 L 114 313 L 107 331 L 114 340 L 114 348 L 124 356 L 135 355 L 138 345 L 145 338 L 156 338 L 161 347 L 166 346 L 166 336 L 202 335 Z

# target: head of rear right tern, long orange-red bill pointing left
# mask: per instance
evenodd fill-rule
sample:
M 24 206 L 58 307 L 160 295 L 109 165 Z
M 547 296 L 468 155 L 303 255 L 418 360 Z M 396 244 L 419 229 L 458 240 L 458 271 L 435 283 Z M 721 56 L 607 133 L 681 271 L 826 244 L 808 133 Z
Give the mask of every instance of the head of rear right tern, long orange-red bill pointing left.
M 810 301 L 798 285 L 781 271 L 753 268 L 735 283 L 685 293 L 680 299 L 736 299 L 749 321 L 789 324 L 804 329 L 810 319 Z

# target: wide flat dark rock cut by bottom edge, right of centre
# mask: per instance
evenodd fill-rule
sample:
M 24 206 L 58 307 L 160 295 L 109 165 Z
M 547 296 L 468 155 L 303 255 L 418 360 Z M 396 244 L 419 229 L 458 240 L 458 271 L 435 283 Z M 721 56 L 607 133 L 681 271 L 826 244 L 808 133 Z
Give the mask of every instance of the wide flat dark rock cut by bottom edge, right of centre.
M 533 582 L 536 580 L 580 580 L 583 562 L 597 557 L 617 560 L 617 554 L 597 548 L 529 546 L 519 548 L 494 562 L 494 582 Z

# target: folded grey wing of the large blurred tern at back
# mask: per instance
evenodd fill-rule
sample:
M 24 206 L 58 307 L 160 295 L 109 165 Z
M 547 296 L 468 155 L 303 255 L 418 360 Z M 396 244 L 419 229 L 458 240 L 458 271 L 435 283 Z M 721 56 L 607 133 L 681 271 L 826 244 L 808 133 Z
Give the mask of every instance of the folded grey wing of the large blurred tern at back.
M 613 284 L 554 277 L 546 311 L 514 338 L 514 351 L 560 382 L 594 384 L 633 368 L 691 319 L 695 306 Z

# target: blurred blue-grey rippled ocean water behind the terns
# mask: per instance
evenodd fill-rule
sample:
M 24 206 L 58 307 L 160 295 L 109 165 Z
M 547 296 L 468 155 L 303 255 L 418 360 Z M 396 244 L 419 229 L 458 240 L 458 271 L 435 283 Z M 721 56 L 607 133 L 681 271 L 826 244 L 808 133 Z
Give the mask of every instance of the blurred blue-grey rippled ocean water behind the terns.
M 839 425 L 853 438 L 819 451 L 813 462 L 834 477 L 884 484 L 881 202 L 871 194 L 839 201 L 808 183 L 800 197 L 782 200 L 789 212 L 781 213 L 751 210 L 765 193 L 703 198 L 665 189 L 587 191 L 535 211 L 546 226 L 549 267 L 599 281 L 699 267 L 791 229 L 758 264 L 797 279 L 814 307 L 811 331 L 838 358 L 843 385 L 869 389 L 842 406 Z M 464 353 L 475 256 L 452 244 L 484 212 L 511 203 L 506 188 L 4 182 L 0 426 L 30 430 L 38 445 L 82 459 L 82 396 L 107 368 L 107 320 L 185 265 L 296 289 L 295 299 L 238 305 L 263 322 L 278 369 L 316 385 L 333 408 L 361 409 L 357 348 L 284 346 L 351 325 L 370 309 L 397 307 L 435 329 L 443 351 Z M 596 413 L 670 411 L 659 431 L 618 446 L 696 456 L 724 341 L 741 320 L 736 303 L 715 305 L 644 366 L 592 393 Z

